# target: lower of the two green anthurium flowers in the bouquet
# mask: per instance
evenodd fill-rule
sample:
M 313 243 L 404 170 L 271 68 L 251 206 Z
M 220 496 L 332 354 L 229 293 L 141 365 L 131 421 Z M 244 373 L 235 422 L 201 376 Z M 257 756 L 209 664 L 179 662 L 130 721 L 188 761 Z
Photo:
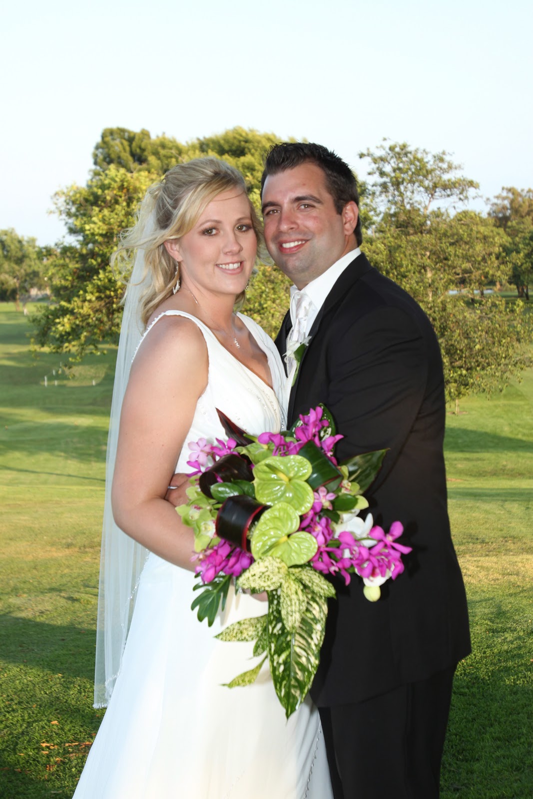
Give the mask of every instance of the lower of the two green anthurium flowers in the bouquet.
M 314 536 L 298 531 L 300 516 L 291 505 L 279 502 L 261 515 L 253 529 L 252 555 L 261 558 L 279 558 L 286 566 L 307 563 L 316 553 Z

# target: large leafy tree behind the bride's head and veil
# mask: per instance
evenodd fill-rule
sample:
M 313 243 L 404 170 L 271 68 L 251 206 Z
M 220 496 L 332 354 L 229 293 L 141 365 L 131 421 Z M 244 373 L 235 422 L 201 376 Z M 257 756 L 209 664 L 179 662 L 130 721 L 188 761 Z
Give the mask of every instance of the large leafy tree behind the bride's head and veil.
M 224 157 L 245 175 L 250 197 L 260 204 L 263 155 L 280 141 L 273 133 L 234 128 L 220 136 L 186 145 L 149 132 L 108 128 L 93 151 L 93 170 L 85 186 L 56 193 L 54 202 L 71 240 L 60 242 L 47 264 L 56 304 L 34 317 L 35 341 L 77 360 L 97 351 L 104 340 L 117 340 L 121 325 L 124 279 L 114 275 L 109 256 L 117 235 L 133 224 L 145 190 L 179 161 L 212 155 Z M 282 316 L 287 281 L 277 269 L 261 267 L 249 292 L 248 312 L 273 331 Z M 270 297 L 270 303 L 267 302 Z

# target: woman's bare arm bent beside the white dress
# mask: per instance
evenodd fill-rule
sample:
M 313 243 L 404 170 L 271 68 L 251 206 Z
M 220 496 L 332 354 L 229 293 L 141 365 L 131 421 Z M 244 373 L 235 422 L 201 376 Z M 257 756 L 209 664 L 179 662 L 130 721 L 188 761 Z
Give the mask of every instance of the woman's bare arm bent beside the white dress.
M 112 505 L 121 530 L 161 558 L 193 570 L 193 531 L 165 500 L 169 479 L 208 380 L 196 324 L 168 316 L 133 361 L 122 403 Z

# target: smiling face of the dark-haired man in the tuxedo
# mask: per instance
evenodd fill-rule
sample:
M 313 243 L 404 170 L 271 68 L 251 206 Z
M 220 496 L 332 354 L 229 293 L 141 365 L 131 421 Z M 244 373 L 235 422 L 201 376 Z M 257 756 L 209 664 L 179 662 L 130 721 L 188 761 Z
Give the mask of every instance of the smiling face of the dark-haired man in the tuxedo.
M 262 205 L 268 252 L 297 288 L 356 248 L 357 206 L 349 202 L 336 212 L 316 164 L 268 175 Z

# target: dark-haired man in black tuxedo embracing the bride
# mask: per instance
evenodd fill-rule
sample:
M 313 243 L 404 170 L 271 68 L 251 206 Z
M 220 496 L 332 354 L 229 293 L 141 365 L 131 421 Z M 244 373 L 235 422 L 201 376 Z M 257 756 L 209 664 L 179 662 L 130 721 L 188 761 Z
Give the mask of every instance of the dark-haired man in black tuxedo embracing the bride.
M 288 424 L 321 402 L 344 435 L 340 459 L 388 448 L 370 511 L 385 529 L 399 519 L 412 547 L 378 602 L 358 578 L 335 581 L 311 691 L 335 799 L 433 799 L 453 674 L 470 652 L 447 517 L 439 344 L 412 297 L 360 252 L 344 161 L 320 145 L 276 145 L 261 196 L 268 251 L 295 284 L 276 345 L 284 356 L 292 328 L 310 337 L 299 368 L 289 360 Z

